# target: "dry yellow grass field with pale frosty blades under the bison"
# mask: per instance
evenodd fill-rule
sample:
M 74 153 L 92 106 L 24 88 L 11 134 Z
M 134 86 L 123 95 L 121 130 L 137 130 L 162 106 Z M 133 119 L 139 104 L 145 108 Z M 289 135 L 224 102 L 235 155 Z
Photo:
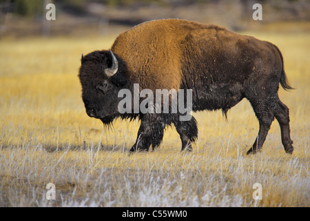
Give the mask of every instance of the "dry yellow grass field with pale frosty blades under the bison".
M 257 155 L 247 100 L 194 113 L 198 141 L 180 153 L 175 129 L 160 148 L 129 155 L 139 122 L 109 129 L 85 113 L 77 77 L 81 53 L 107 49 L 115 36 L 0 40 L 0 206 L 310 206 L 310 33 L 248 32 L 276 44 L 291 86 L 295 151 L 287 155 L 275 120 Z M 45 198 L 46 184 L 56 200 Z M 253 185 L 262 185 L 254 200 Z

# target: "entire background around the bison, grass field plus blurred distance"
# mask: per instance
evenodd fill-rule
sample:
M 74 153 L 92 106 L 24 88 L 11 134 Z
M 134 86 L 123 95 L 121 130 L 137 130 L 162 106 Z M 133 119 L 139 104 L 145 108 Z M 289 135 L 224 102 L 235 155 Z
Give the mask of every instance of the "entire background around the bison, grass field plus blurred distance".
M 48 3 L 55 21 L 45 17 Z M 252 17 L 255 3 L 262 20 Z M 278 92 L 290 111 L 292 156 L 275 120 L 263 153 L 242 157 L 259 126 L 247 99 L 227 120 L 221 111 L 194 113 L 199 135 L 188 157 L 173 126 L 158 151 L 129 157 L 138 119 L 107 129 L 87 116 L 81 54 L 107 50 L 124 30 L 164 18 L 214 23 L 280 48 L 296 88 Z M 309 64 L 309 0 L 0 0 L 0 206 L 85 206 L 92 199 L 99 206 L 309 207 Z M 50 182 L 61 198 L 48 204 L 42 193 Z M 251 200 L 254 182 L 262 182 L 264 200 Z

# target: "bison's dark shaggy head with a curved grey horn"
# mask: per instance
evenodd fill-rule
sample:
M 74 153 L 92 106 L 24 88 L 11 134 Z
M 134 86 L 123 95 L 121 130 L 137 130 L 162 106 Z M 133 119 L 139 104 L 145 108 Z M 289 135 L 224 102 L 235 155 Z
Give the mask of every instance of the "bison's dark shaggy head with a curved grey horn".
M 82 55 L 79 79 L 87 115 L 110 124 L 118 116 L 118 90 L 127 84 L 121 59 L 112 50 Z

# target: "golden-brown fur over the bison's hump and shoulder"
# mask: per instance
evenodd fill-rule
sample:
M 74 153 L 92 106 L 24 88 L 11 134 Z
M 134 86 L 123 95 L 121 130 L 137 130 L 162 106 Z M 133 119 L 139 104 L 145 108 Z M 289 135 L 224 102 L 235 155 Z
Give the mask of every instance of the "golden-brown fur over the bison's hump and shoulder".
M 181 42 L 197 28 L 220 29 L 178 19 L 149 21 L 119 35 L 112 51 L 126 61 L 128 77 L 136 78 L 141 88 L 178 89 L 182 77 Z

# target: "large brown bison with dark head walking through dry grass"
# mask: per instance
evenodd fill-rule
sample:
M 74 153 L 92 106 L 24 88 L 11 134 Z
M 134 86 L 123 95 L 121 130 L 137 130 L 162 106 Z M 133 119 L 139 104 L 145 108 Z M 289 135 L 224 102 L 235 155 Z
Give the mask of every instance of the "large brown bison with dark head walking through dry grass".
M 182 150 L 191 151 L 198 135 L 196 119 L 181 121 L 179 112 L 119 113 L 118 92 L 125 88 L 134 93 L 134 84 L 154 92 L 191 89 L 194 112 L 221 109 L 226 115 L 247 98 L 260 126 L 247 154 L 261 149 L 274 117 L 286 153 L 293 152 L 289 108 L 278 97 L 279 83 L 285 90 L 292 88 L 280 50 L 268 41 L 181 19 L 148 21 L 118 35 L 111 50 L 82 55 L 79 79 L 90 117 L 107 125 L 117 117 L 141 120 L 131 152 L 156 148 L 167 125 L 176 127 Z

